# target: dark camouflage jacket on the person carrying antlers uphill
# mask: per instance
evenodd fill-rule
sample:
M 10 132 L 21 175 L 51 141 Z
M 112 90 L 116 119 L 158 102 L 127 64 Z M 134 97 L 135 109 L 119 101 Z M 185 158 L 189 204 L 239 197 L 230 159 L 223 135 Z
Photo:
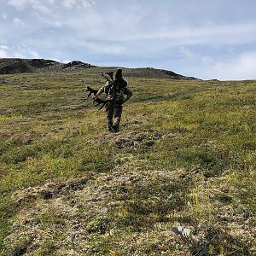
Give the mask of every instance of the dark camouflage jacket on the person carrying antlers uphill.
M 124 102 L 124 95 L 132 96 L 132 92 L 127 87 L 127 82 L 122 79 L 120 81 L 115 81 L 114 84 L 107 82 L 102 90 L 106 93 L 107 99 L 112 99 L 113 102 L 122 104 Z

